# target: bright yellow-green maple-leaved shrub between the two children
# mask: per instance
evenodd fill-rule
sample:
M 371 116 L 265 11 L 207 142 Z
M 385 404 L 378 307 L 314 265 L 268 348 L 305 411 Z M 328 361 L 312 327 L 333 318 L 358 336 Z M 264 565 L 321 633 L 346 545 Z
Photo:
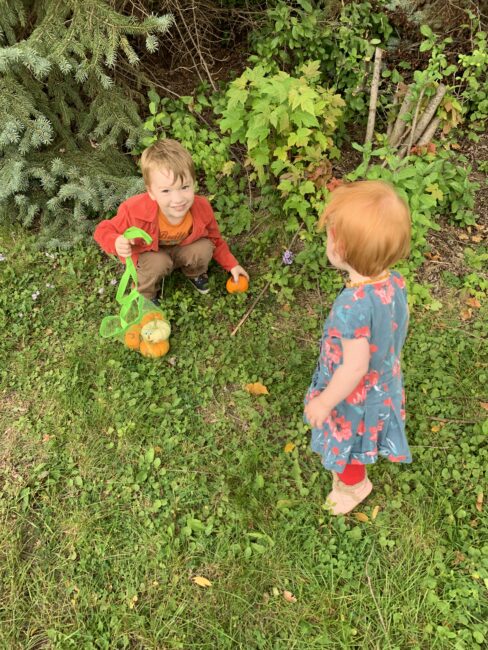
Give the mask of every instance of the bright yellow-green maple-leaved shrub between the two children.
M 303 65 L 300 77 L 248 68 L 230 84 L 220 122 L 232 143 L 246 146 L 251 178 L 278 183 L 291 232 L 299 226 L 296 215 L 312 228 L 310 208 L 330 177 L 328 158 L 339 155 L 332 135 L 344 102 L 319 85 L 318 67 L 318 61 Z

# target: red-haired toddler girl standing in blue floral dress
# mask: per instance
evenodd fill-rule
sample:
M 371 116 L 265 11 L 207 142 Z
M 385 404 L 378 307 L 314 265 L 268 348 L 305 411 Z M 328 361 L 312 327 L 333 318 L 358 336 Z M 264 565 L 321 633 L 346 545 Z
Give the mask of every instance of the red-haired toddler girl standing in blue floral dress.
M 327 257 L 349 282 L 325 321 L 305 397 L 312 449 L 332 470 L 328 505 L 350 512 L 373 489 L 366 465 L 378 455 L 410 463 L 400 353 L 408 327 L 405 281 L 390 265 L 410 248 L 405 202 L 383 181 L 334 190 L 320 222 Z

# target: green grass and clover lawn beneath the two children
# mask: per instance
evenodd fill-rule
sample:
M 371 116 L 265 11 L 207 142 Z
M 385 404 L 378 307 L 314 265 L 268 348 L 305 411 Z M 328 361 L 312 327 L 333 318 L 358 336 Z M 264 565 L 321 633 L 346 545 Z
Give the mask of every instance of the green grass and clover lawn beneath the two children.
M 332 271 L 323 304 L 268 293 L 235 337 L 259 272 L 246 296 L 216 269 L 210 297 L 175 277 L 152 361 L 98 337 L 120 269 L 94 246 L 4 232 L 0 251 L 1 648 L 484 646 L 486 309 L 461 320 L 451 287 L 415 310 L 414 463 L 372 469 L 367 521 L 331 518 L 301 418 Z

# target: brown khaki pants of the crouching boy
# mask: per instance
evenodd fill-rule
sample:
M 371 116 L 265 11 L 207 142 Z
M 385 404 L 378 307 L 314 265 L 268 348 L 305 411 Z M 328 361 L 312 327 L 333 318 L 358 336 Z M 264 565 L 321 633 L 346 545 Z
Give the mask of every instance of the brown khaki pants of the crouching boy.
M 210 239 L 197 239 L 188 246 L 160 246 L 158 251 L 141 253 L 137 261 L 138 291 L 145 298 L 154 298 L 161 290 L 161 280 L 173 269 L 181 269 L 188 278 L 206 273 L 214 245 Z

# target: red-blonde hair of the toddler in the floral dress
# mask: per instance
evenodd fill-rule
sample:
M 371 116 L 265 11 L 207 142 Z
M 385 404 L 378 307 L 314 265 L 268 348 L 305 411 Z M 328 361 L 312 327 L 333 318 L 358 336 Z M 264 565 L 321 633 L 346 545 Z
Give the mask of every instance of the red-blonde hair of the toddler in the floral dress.
M 410 252 L 410 211 L 384 181 L 337 187 L 319 228 L 332 232 L 341 259 L 366 277 L 377 276 Z

